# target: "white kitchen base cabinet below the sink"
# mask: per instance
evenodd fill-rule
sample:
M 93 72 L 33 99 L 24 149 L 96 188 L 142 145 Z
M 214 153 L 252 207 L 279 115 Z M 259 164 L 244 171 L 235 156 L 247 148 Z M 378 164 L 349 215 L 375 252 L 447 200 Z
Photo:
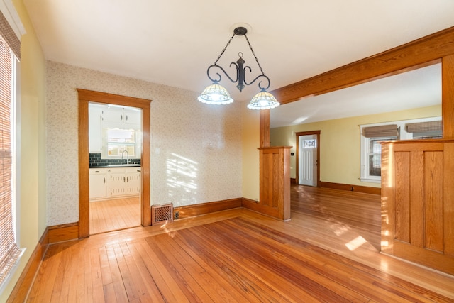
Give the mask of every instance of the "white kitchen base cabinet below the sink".
M 140 194 L 140 167 L 111 167 L 107 172 L 109 197 Z

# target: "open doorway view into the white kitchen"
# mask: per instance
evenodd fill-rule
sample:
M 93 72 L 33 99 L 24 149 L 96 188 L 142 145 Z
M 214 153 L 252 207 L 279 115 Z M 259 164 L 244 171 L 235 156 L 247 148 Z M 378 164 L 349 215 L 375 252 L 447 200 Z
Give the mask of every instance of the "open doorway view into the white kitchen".
M 140 226 L 142 109 L 89 102 L 89 233 Z

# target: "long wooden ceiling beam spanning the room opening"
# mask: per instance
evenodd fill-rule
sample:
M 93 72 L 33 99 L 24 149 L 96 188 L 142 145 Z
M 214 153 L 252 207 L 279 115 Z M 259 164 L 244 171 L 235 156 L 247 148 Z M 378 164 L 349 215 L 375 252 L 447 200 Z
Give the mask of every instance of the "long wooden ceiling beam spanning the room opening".
M 302 97 L 333 92 L 337 89 L 432 65 L 440 62 L 442 57 L 452 54 L 454 54 L 454 27 L 321 75 L 275 89 L 271 93 L 281 104 L 286 104 Z

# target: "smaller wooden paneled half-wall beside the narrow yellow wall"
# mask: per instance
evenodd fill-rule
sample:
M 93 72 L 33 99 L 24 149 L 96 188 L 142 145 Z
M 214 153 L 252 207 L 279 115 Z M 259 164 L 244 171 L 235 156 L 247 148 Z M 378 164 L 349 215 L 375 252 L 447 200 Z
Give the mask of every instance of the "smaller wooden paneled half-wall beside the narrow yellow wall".
M 277 219 L 290 219 L 290 148 L 292 147 L 258 148 L 260 201 L 243 206 Z

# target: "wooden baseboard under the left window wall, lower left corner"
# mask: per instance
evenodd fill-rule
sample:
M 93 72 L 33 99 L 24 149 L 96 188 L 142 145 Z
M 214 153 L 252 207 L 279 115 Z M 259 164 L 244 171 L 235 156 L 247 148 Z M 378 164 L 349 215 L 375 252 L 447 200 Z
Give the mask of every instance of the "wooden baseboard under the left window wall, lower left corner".
M 40 241 L 36 244 L 35 250 L 33 250 L 33 253 L 28 259 L 26 267 L 23 268 L 21 276 L 6 301 L 7 303 L 19 303 L 26 301 L 28 290 L 31 289 L 35 275 L 39 270 L 41 261 L 43 260 L 45 252 L 48 248 L 48 243 L 49 228 L 45 228 L 43 236 L 41 236 Z

